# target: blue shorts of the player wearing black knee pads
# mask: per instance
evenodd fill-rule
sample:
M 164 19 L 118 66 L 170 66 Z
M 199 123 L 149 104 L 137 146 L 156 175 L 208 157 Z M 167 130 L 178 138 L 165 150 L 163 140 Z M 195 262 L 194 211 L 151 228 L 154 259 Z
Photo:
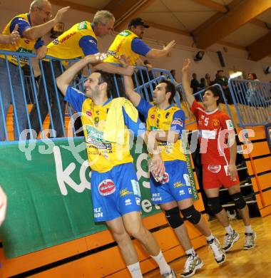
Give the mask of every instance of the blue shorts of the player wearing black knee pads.
M 150 174 L 150 193 L 155 205 L 193 198 L 185 161 L 165 161 L 165 175 L 162 182 L 156 182 Z

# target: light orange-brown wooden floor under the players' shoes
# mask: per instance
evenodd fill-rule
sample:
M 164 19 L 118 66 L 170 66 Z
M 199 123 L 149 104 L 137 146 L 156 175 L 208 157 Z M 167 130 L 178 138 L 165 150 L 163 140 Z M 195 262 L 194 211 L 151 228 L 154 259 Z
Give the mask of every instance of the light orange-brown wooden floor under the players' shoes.
M 197 250 L 198 255 L 203 259 L 204 266 L 193 277 L 215 277 L 215 278 L 269 278 L 271 277 L 271 215 L 267 217 L 252 218 L 252 228 L 257 233 L 257 247 L 255 249 L 243 250 L 244 226 L 242 220 L 231 222 L 237 232 L 240 233 L 240 240 L 227 252 L 227 262 L 218 266 L 213 259 L 213 254 L 208 247 L 201 247 Z M 225 230 L 216 220 L 210 222 L 214 235 L 223 243 Z M 183 270 L 185 257 L 176 259 L 170 265 L 177 272 L 178 277 Z M 160 277 L 158 269 L 144 275 L 144 278 Z

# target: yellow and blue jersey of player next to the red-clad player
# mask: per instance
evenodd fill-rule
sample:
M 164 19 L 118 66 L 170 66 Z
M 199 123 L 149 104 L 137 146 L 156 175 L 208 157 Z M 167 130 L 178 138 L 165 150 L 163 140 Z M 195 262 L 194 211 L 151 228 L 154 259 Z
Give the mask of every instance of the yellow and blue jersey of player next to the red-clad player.
M 151 105 L 143 98 L 138 103 L 137 109 L 146 119 L 147 130 L 175 130 L 179 133 L 179 138 L 175 143 L 158 141 L 163 161 L 186 161 L 181 140 L 185 128 L 185 113 L 183 110 L 173 105 L 163 110 Z

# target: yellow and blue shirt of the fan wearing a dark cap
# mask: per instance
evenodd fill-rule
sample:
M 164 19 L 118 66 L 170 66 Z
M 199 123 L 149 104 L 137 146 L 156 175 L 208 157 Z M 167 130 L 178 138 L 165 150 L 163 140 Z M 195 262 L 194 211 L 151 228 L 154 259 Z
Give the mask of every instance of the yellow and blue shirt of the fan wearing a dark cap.
M 108 57 L 104 60 L 107 63 L 121 64 L 118 57 L 130 56 L 130 65 L 135 66 L 139 56 L 145 56 L 150 47 L 130 30 L 123 30 L 118 34 L 108 49 Z

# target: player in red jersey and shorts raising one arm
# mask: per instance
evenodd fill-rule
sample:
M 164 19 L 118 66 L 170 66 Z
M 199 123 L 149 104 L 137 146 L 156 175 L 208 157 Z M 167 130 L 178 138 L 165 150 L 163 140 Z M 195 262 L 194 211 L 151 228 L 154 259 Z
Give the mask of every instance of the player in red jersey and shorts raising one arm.
M 203 164 L 203 188 L 208 197 L 208 206 L 225 227 L 223 249 L 228 251 L 240 235 L 232 229 L 227 213 L 220 204 L 219 189 L 227 187 L 237 210 L 245 223 L 244 249 L 255 247 L 256 234 L 250 225 L 247 204 L 240 192 L 240 182 L 235 166 L 237 154 L 235 131 L 230 117 L 218 109 L 220 89 L 210 87 L 203 94 L 203 105 L 195 101 L 190 89 L 188 69 L 190 59 L 183 63 L 183 90 L 190 110 L 198 123 L 201 163 Z

